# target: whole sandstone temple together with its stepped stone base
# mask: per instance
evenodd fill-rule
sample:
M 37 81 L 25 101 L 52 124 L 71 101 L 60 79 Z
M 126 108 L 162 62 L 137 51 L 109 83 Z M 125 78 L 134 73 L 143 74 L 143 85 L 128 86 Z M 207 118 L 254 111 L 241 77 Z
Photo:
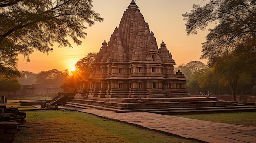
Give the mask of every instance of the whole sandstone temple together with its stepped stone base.
M 190 97 L 186 79 L 180 70 L 173 72 L 174 65 L 166 44 L 163 41 L 158 48 L 153 32 L 132 0 L 109 42 L 102 43 L 90 77 L 79 81 L 74 99 L 66 106 L 169 114 L 184 112 L 185 108 L 204 111 L 223 106 L 223 110 L 235 105 L 216 97 Z

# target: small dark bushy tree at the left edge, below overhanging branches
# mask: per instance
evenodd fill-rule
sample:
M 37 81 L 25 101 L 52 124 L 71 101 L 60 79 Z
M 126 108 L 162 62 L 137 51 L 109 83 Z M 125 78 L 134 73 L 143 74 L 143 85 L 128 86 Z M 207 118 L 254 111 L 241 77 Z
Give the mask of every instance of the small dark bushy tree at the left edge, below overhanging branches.
M 17 78 L 0 78 L 0 91 L 14 92 L 15 97 L 16 91 L 21 87 Z

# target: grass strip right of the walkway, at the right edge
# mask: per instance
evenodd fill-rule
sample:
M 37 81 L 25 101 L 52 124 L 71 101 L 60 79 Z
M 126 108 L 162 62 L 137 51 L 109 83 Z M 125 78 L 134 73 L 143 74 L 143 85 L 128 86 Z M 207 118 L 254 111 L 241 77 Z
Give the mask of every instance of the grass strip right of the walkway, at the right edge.
M 174 115 L 178 117 L 206 120 L 237 125 L 256 126 L 256 112 L 234 112 L 234 113 L 214 113 L 214 114 L 186 114 Z

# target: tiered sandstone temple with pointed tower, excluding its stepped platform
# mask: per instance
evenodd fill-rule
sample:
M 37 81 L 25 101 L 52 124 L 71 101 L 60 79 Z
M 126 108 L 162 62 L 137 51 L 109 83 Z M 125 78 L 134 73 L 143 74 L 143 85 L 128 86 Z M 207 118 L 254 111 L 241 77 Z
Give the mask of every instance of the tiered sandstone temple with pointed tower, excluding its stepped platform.
M 104 41 L 87 80 L 76 96 L 101 98 L 189 97 L 186 79 L 164 41 L 158 48 L 139 7 L 132 0 L 110 40 Z

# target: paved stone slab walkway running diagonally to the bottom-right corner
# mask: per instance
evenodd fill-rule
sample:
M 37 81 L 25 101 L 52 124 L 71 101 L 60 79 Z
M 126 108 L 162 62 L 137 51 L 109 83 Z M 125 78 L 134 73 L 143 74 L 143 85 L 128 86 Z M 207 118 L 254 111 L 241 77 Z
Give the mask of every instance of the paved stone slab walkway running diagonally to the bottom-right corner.
M 206 143 L 256 143 L 256 127 L 252 126 L 186 119 L 148 112 L 116 113 L 94 108 L 78 111 Z

